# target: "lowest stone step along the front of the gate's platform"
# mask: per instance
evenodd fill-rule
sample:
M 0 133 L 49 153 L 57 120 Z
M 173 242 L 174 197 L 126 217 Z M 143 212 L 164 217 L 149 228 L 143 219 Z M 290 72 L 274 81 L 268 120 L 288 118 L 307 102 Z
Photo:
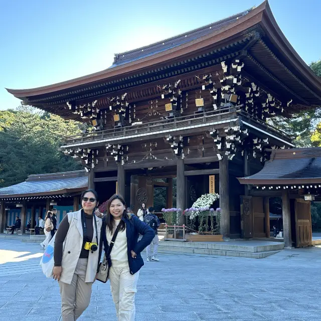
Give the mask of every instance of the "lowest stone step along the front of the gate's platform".
M 202 249 L 202 248 L 163 246 L 163 245 L 159 245 L 158 250 L 190 253 L 190 254 L 208 254 L 208 255 L 220 255 L 220 256 L 245 257 L 245 258 L 253 258 L 253 259 L 262 259 L 281 251 L 281 250 L 276 250 L 276 251 L 262 251 L 262 252 L 242 252 L 242 251 L 212 250 L 212 249 L 205 249 L 205 248 Z

